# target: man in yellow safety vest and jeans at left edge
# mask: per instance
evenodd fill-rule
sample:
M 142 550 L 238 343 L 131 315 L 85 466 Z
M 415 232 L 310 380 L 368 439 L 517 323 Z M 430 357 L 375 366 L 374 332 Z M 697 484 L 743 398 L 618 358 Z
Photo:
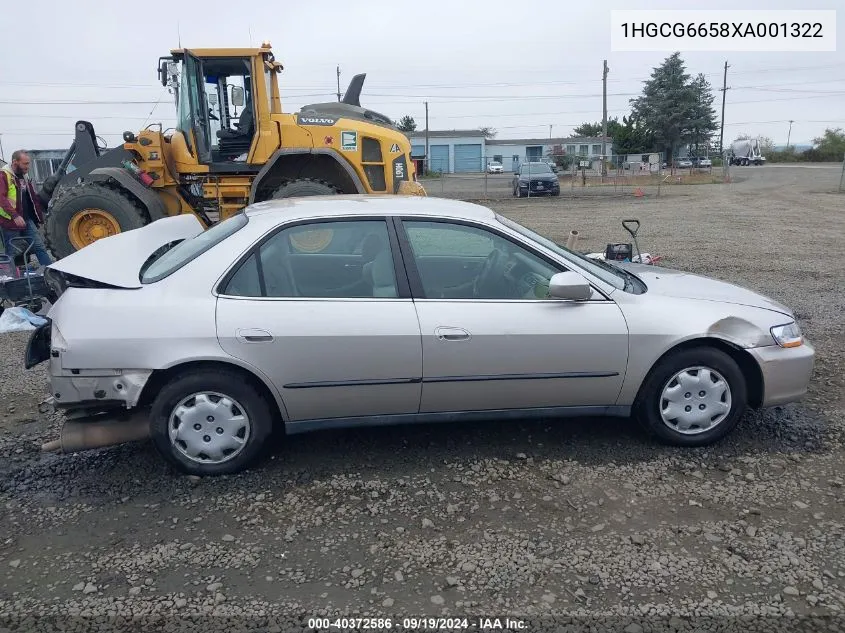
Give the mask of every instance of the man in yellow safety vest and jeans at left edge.
M 0 168 L 0 228 L 7 255 L 14 257 L 26 250 L 22 240 L 13 241 L 23 237 L 32 246 L 30 253 L 35 254 L 38 263 L 47 266 L 53 263 L 53 258 L 38 233 L 38 227 L 44 223 L 44 204 L 26 178 L 30 164 L 29 155 L 18 150 L 12 154 L 12 162 Z

